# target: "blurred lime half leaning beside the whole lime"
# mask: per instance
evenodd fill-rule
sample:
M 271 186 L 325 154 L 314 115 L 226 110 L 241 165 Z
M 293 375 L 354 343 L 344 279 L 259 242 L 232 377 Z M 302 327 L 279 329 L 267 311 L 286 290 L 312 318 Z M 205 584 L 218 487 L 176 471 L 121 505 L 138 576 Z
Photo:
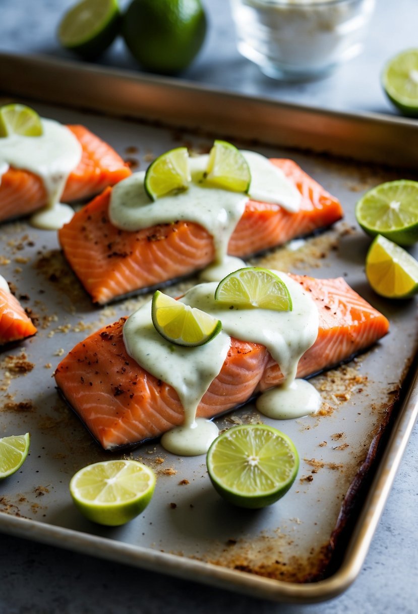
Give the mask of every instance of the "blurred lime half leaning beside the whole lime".
M 58 40 L 85 58 L 95 58 L 109 47 L 120 28 L 118 0 L 82 0 L 62 18 Z

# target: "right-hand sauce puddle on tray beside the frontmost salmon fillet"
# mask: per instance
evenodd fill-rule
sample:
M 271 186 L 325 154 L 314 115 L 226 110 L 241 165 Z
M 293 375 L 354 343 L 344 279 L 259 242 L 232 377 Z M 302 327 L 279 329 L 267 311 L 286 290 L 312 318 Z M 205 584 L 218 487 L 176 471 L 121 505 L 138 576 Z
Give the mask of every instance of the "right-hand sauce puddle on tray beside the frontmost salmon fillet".
M 289 386 L 267 390 L 256 400 L 257 410 L 275 420 L 316 414 L 320 406 L 321 395 L 306 379 L 295 379 Z

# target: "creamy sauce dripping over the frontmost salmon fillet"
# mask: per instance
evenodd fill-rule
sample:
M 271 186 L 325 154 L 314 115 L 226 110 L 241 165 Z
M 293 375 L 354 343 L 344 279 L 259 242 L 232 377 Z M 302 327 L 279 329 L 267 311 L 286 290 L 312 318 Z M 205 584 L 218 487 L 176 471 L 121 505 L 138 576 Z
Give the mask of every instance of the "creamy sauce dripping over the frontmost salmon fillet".
M 165 433 L 161 440 L 170 452 L 186 456 L 204 454 L 216 438 L 216 426 L 204 419 L 196 420 L 196 411 L 211 382 L 221 371 L 230 348 L 230 336 L 264 345 L 285 378 L 281 390 L 292 397 L 294 406 L 298 408 L 292 417 L 310 413 L 304 405 L 305 395 L 306 388 L 313 387 L 307 382 L 306 386 L 301 386 L 295 375 L 300 357 L 317 337 L 317 308 L 300 284 L 284 273 L 275 273 L 291 293 L 292 311 L 230 309 L 229 305 L 215 300 L 216 282 L 199 284 L 188 290 L 180 301 L 222 322 L 222 332 L 197 348 L 184 348 L 162 338 L 151 320 L 151 303 L 146 303 L 127 319 L 123 329 L 127 353 L 154 377 L 170 384 L 184 408 L 183 425 Z M 312 406 L 311 412 L 318 407 Z M 264 413 L 262 408 L 260 411 Z

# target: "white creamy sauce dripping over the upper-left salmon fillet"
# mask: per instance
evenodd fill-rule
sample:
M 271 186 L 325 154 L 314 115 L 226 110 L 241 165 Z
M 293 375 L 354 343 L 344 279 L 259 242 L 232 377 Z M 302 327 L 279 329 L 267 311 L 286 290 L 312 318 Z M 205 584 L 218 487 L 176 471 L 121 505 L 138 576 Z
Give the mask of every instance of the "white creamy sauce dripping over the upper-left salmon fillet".
M 0 139 L 0 182 L 2 174 L 10 166 L 34 173 L 45 186 L 47 208 L 54 208 L 64 192 L 69 174 L 82 159 L 82 146 L 74 134 L 59 122 L 42 119 L 42 128 L 40 136 L 10 134 Z M 59 222 L 62 212 L 63 209 L 56 208 L 54 219 L 59 225 L 53 228 L 63 225 L 64 222 Z M 52 228 L 50 220 L 46 228 Z

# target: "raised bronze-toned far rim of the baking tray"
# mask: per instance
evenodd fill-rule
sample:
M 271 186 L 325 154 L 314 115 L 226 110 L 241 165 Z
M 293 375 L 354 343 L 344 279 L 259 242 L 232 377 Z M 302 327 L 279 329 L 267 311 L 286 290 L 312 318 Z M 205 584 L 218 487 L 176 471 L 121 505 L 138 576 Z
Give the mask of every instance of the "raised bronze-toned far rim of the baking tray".
M 47 58 L 0 53 L 0 90 L 113 115 L 405 168 L 418 166 L 418 122 L 371 113 L 324 111 Z

